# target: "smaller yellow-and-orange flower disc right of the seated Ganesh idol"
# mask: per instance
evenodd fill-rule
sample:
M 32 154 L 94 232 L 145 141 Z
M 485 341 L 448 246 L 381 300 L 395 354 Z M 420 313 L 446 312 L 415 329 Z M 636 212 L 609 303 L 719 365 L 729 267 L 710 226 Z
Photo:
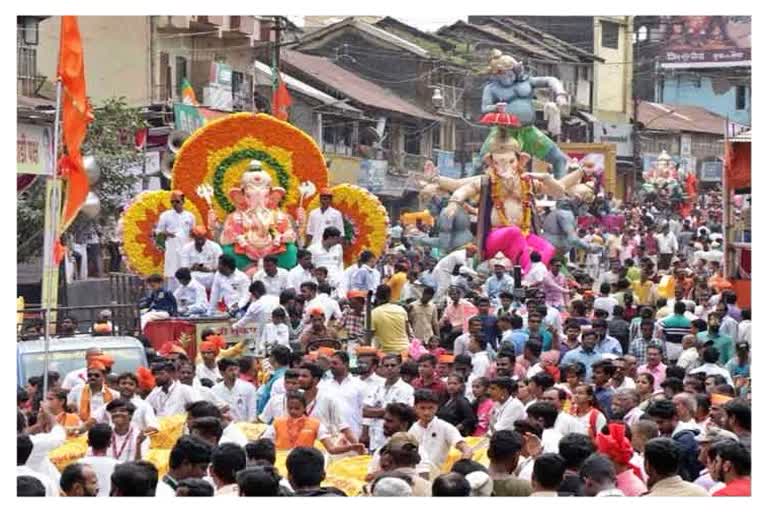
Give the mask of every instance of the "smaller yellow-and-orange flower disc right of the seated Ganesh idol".
M 336 185 L 331 191 L 331 205 L 341 212 L 345 238 L 349 240 L 349 246 L 344 250 L 344 264 L 354 264 L 366 249 L 381 256 L 387 246 L 389 215 L 379 198 L 364 188 L 348 183 Z M 307 214 L 319 206 L 320 198 L 315 197 L 307 207 Z

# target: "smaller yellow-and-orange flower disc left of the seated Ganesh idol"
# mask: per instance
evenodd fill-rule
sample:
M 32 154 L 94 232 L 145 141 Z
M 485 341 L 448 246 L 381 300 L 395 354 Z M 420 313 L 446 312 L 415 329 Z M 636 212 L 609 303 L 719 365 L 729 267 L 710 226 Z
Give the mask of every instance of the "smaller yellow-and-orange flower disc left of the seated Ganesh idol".
M 155 242 L 153 233 L 160 214 L 171 209 L 171 192 L 149 190 L 136 196 L 120 217 L 123 243 L 122 253 L 128 268 L 141 276 L 162 274 L 165 254 Z M 203 217 L 191 201 L 185 201 L 184 209 L 192 212 L 197 224 Z

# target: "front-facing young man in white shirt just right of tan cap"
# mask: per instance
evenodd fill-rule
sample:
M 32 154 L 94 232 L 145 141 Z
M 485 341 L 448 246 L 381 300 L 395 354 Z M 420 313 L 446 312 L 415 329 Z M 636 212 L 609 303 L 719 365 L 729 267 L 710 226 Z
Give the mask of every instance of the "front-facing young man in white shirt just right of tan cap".
M 438 397 L 428 389 L 419 389 L 414 393 L 414 409 L 418 421 L 408 430 L 419 443 L 421 453 L 427 460 L 422 461 L 430 465 L 434 474 L 445 463 L 451 448 L 461 452 L 462 459 L 472 458 L 472 448 L 464 441 L 459 430 L 436 417 Z

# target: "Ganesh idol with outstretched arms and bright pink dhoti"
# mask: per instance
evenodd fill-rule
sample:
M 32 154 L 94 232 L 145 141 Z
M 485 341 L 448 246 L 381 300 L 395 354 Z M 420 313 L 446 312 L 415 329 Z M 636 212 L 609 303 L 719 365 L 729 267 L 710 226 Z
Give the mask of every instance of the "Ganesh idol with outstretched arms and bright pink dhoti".
M 530 155 L 521 151 L 520 143 L 499 129 L 487 145 L 483 162 L 483 175 L 451 179 L 431 174 L 425 193 L 444 191 L 451 194 L 448 206 L 438 219 L 438 231 L 445 239 L 464 240 L 468 237 L 483 243 L 484 259 L 503 253 L 513 264 L 524 270 L 530 266 L 530 253 L 537 251 L 544 262 L 555 254 L 555 247 L 533 232 L 533 213 L 536 194 L 546 193 L 551 198 L 565 196 L 589 200 L 594 190 L 582 183 L 583 170 L 570 169 L 563 178 L 548 173 L 527 173 Z M 426 171 L 429 171 L 428 167 Z M 469 232 L 463 206 L 476 201 L 478 208 L 477 233 Z M 452 250 L 453 247 L 443 247 Z

